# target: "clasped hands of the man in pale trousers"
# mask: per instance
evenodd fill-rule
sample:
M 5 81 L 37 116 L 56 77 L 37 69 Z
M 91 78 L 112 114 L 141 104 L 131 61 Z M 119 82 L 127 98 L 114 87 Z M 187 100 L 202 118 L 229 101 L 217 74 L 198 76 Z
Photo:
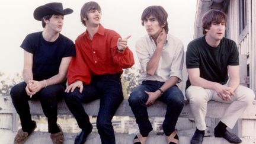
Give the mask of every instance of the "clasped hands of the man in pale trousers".
M 217 92 L 217 95 L 224 101 L 230 101 L 231 95 L 233 95 L 231 87 L 226 87 L 225 85 L 221 84 L 215 85 L 215 91 Z

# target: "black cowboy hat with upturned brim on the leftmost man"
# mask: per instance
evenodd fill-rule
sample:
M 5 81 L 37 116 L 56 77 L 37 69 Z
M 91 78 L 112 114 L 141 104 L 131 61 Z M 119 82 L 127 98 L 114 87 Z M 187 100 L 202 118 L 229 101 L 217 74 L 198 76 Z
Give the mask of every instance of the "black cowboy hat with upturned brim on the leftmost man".
M 66 15 L 66 14 L 71 14 L 72 12 L 73 10 L 70 8 L 63 9 L 62 3 L 51 2 L 36 8 L 34 10 L 34 18 L 36 20 L 41 21 L 42 18 L 46 15 L 52 15 L 52 14 Z

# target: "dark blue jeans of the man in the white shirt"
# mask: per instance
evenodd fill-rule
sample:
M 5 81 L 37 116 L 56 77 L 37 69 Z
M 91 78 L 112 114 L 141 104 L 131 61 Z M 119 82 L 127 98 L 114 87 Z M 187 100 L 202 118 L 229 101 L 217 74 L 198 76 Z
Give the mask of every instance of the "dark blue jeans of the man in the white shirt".
M 148 118 L 147 106 L 148 94 L 144 91 L 155 92 L 164 82 L 143 81 L 142 85 L 133 89 L 129 97 L 129 104 L 135 114 L 136 123 L 142 135 L 148 135 L 152 130 L 151 122 Z M 177 85 L 167 89 L 158 100 L 167 104 L 165 120 L 162 124 L 165 135 L 170 135 L 175 130 L 175 125 L 184 106 L 184 96 Z

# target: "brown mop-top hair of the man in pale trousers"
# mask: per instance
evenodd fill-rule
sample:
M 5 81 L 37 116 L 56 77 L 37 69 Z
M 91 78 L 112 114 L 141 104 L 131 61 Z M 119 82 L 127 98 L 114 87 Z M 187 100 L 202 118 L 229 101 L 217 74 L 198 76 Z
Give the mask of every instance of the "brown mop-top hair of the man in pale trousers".
M 225 25 L 227 26 L 228 17 L 224 12 L 217 9 L 210 9 L 202 18 L 203 34 L 207 33 L 206 30 L 209 30 L 213 23 L 220 24 L 223 21 L 225 21 Z

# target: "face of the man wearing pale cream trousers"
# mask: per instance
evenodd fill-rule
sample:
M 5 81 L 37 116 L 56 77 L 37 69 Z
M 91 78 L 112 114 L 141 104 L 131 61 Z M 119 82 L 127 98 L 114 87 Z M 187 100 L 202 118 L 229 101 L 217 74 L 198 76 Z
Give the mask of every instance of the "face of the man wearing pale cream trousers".
M 205 31 L 207 32 L 207 37 L 209 37 L 212 40 L 219 41 L 224 37 L 225 30 L 225 21 L 222 21 L 222 23 L 212 23 L 210 28 L 206 29 Z

